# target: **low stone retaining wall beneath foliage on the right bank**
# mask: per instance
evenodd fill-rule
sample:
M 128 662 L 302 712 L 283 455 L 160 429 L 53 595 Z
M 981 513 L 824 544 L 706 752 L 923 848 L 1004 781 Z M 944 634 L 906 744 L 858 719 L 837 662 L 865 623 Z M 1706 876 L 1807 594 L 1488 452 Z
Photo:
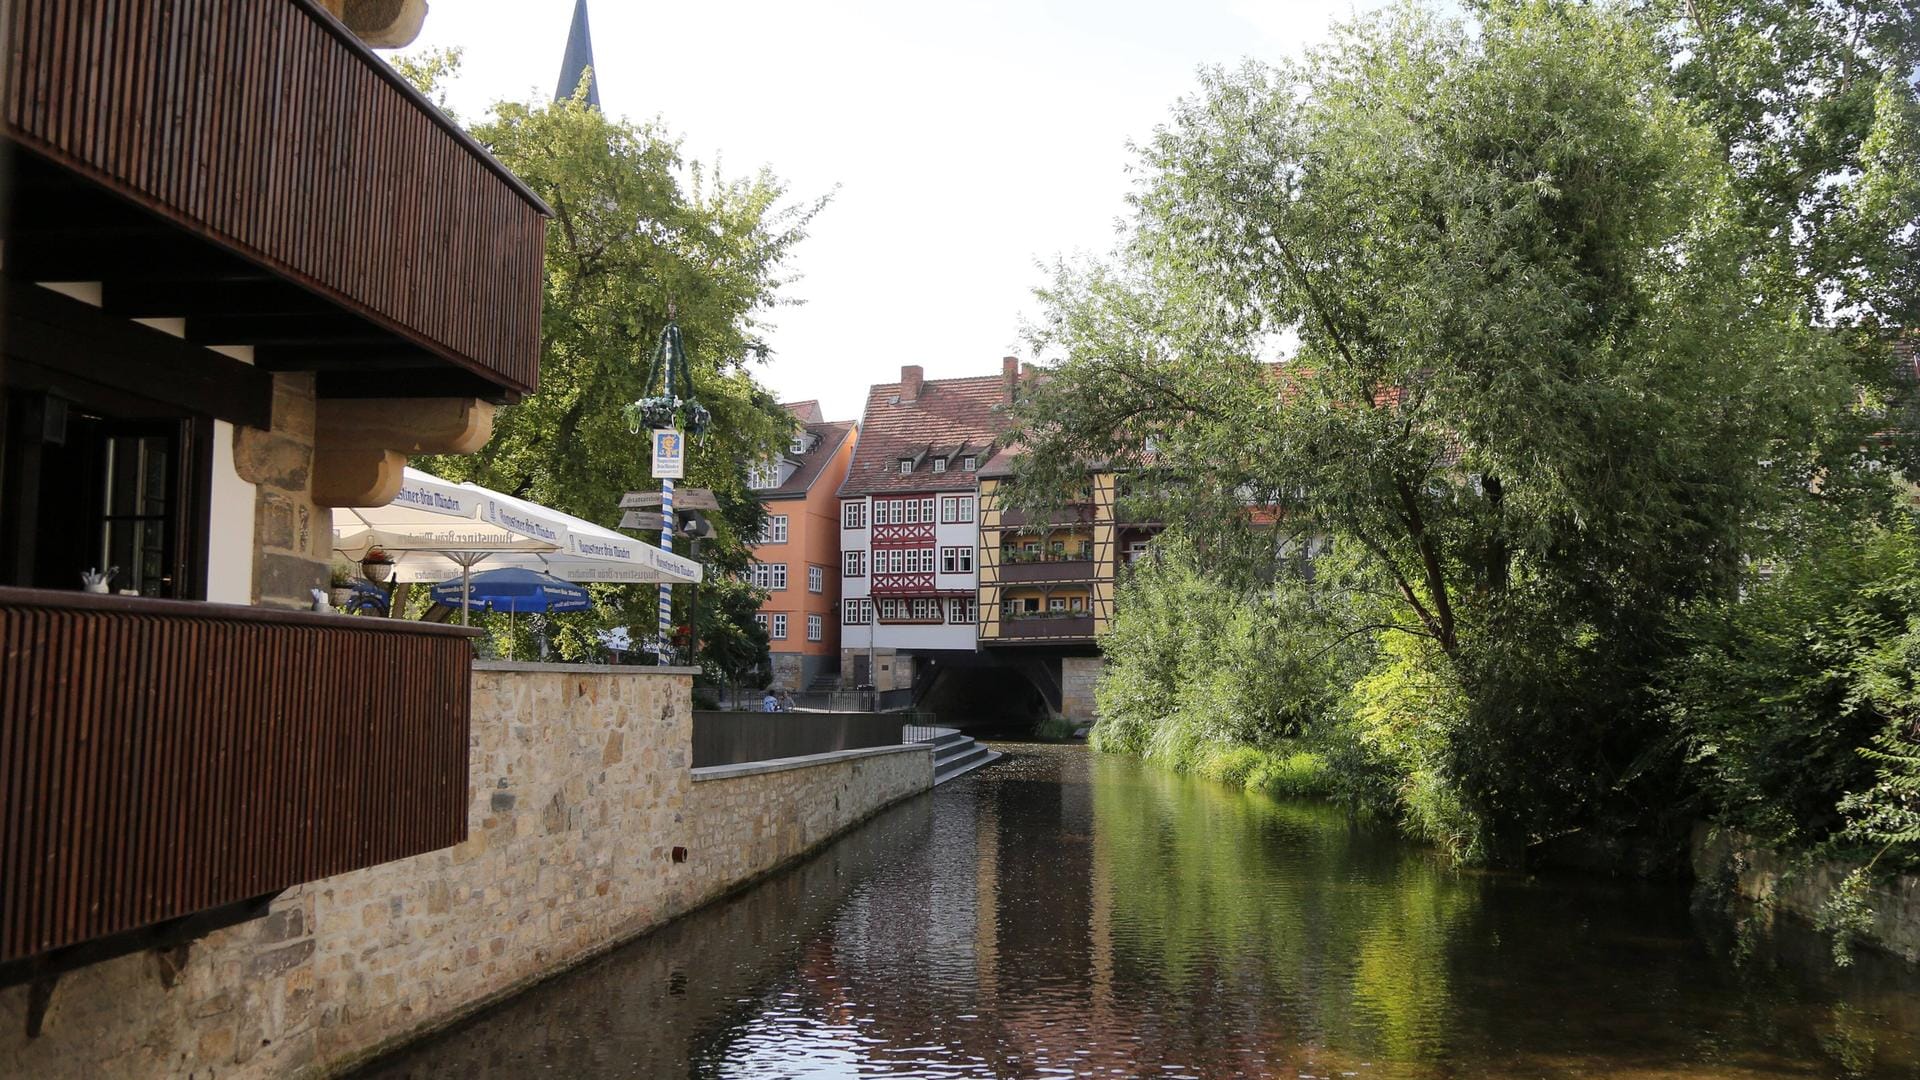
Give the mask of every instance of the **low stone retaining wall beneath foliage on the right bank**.
M 1730 882 L 1740 896 L 1770 903 L 1812 922 L 1820 905 L 1853 867 L 1841 863 L 1795 863 L 1761 846 L 1751 836 L 1713 824 L 1693 826 L 1693 876 L 1701 882 Z M 1876 884 L 1866 894 L 1874 911 L 1870 940 L 1920 963 L 1920 876 L 1901 874 Z

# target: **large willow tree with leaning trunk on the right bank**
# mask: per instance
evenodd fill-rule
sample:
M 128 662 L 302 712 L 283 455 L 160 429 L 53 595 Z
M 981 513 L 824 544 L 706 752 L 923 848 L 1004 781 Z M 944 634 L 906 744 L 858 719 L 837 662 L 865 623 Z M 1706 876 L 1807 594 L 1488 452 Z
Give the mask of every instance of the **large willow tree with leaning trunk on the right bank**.
M 1246 582 L 1284 557 L 1235 507 L 1329 534 L 1336 632 L 1377 650 L 1350 719 L 1469 855 L 1661 801 L 1642 688 L 1672 615 L 1782 500 L 1843 494 L 1857 446 L 1853 356 L 1772 286 L 1644 27 L 1398 10 L 1208 71 L 1140 148 L 1121 252 L 1043 290 L 1025 490 L 1160 475 Z

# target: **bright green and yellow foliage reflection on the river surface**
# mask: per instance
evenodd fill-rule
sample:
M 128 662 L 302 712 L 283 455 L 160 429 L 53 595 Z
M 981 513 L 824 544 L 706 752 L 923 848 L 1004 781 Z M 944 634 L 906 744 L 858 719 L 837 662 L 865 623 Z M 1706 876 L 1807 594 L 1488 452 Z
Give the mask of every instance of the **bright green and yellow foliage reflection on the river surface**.
M 1332 805 L 1108 757 L 1092 767 L 1116 967 L 1175 995 L 1223 970 L 1252 976 L 1311 1042 L 1388 1061 L 1444 1055 L 1448 945 L 1476 878 Z

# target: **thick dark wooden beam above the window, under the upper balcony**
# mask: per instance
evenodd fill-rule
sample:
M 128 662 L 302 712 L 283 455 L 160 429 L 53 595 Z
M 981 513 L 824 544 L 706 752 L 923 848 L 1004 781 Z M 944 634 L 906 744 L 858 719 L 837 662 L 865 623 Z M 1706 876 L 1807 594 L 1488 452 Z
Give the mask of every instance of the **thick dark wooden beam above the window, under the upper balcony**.
M 190 413 L 273 427 L 273 375 L 12 275 L 0 282 L 8 356 Z

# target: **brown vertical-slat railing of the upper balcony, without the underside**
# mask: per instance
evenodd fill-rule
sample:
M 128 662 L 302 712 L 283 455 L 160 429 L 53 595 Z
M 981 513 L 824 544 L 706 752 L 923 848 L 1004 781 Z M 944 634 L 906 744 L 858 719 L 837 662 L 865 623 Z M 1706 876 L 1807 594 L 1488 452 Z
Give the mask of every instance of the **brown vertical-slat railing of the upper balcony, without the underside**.
M 6 135 L 490 380 L 545 206 L 309 0 L 13 0 Z

